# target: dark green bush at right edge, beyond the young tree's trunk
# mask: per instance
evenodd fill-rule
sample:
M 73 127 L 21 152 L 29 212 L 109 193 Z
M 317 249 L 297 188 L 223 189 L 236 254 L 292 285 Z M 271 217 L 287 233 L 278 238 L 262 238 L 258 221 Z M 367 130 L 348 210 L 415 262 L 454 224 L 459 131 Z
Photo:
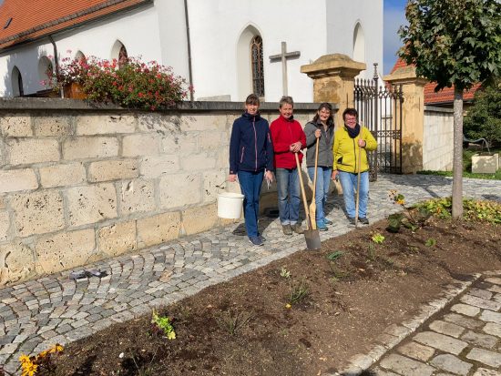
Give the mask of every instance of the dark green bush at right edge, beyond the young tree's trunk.
M 486 138 L 490 146 L 501 145 L 501 78 L 475 93 L 464 125 L 469 138 Z

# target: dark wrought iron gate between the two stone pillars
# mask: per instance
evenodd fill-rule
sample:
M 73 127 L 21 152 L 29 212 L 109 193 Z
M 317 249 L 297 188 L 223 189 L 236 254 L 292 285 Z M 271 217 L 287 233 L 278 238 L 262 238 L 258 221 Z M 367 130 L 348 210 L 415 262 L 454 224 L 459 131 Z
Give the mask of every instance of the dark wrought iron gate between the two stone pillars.
M 402 173 L 402 85 L 378 86 L 377 63 L 372 80 L 356 79 L 354 103 L 363 127 L 377 140 L 377 149 L 369 152 L 370 179 L 378 172 Z

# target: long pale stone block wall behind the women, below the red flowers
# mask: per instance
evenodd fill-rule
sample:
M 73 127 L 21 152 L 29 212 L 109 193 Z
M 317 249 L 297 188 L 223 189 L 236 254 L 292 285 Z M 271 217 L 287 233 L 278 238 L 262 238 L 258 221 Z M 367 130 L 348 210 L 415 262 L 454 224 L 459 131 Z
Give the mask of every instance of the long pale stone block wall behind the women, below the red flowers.
M 241 108 L 195 102 L 146 113 L 1 100 L 0 285 L 223 224 L 217 194 Z M 271 120 L 277 108 L 261 114 Z M 305 124 L 316 108 L 297 104 L 295 117 Z

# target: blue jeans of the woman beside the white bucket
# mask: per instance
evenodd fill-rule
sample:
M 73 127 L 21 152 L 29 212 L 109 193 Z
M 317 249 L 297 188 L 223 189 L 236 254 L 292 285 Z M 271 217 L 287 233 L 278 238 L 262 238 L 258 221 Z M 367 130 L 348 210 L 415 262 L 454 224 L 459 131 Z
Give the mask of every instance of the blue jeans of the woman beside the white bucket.
M 249 238 L 257 237 L 258 215 L 260 213 L 260 194 L 264 171 L 251 172 L 239 171 L 239 183 L 243 194 L 243 217 L 245 218 L 245 229 Z

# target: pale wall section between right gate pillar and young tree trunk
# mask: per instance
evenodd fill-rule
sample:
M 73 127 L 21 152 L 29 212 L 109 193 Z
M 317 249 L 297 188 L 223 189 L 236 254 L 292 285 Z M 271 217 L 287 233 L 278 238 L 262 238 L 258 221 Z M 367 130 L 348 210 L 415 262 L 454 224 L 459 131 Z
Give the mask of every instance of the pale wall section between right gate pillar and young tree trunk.
M 423 169 L 452 171 L 454 110 L 424 107 Z

